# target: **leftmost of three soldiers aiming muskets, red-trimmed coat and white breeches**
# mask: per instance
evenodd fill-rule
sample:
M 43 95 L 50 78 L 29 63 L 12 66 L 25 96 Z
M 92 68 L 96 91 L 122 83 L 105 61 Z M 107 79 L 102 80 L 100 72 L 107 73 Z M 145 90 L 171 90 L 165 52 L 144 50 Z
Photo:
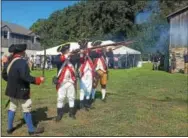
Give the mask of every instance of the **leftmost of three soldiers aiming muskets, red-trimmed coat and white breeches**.
M 74 67 L 70 58 L 70 44 L 64 44 L 60 46 L 58 50 L 61 52 L 57 56 L 56 64 L 58 66 L 57 77 L 53 78 L 53 82 L 56 84 L 58 93 L 57 98 L 57 117 L 56 121 L 60 121 L 64 114 L 64 100 L 67 97 L 69 101 L 69 117 L 76 119 L 75 117 L 75 85 L 76 75 Z

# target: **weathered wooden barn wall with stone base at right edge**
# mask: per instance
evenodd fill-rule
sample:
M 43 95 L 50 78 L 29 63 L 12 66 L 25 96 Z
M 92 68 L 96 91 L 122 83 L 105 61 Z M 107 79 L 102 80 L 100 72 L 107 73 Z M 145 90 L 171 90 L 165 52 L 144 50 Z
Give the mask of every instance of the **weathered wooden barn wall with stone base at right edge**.
M 170 19 L 170 45 L 169 52 L 176 55 L 178 72 L 184 69 L 184 51 L 188 48 L 188 10 L 177 14 Z

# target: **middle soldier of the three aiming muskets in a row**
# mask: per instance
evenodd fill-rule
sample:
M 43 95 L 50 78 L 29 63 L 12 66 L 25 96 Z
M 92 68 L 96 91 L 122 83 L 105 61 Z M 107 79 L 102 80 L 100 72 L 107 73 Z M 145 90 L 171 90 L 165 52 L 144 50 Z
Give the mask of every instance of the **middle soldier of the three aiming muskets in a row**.
M 91 59 L 90 49 L 87 48 L 88 41 L 86 39 L 79 41 L 80 45 L 80 109 L 85 107 L 88 110 L 91 107 L 90 95 L 93 85 L 94 66 Z M 86 101 L 84 101 L 84 97 Z

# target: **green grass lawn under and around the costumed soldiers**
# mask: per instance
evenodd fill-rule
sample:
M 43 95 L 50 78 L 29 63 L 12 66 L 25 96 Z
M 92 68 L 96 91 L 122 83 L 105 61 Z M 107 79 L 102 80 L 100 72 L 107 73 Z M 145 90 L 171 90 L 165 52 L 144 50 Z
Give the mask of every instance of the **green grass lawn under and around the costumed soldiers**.
M 144 64 L 142 68 L 110 70 L 107 103 L 101 102 L 97 93 L 95 109 L 78 111 L 76 120 L 66 113 L 59 123 L 51 119 L 56 116 L 57 92 L 51 83 L 56 70 L 46 72 L 46 82 L 31 87 L 35 123 L 46 130 L 40 136 L 188 136 L 187 76 L 151 68 L 151 64 Z M 42 72 L 33 74 L 39 76 Z M 2 136 L 7 136 L 5 84 L 3 81 Z M 15 126 L 21 123 L 20 111 Z M 28 136 L 26 124 L 13 136 Z

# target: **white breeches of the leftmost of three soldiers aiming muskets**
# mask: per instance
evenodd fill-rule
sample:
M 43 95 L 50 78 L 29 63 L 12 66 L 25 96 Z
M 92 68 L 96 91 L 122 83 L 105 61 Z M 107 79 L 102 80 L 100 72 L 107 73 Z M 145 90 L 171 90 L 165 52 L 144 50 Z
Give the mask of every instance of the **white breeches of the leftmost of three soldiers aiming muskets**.
M 74 107 L 75 100 L 75 87 L 73 83 L 67 82 L 62 84 L 57 92 L 57 108 L 64 107 L 64 100 L 67 97 L 69 101 L 69 107 Z

